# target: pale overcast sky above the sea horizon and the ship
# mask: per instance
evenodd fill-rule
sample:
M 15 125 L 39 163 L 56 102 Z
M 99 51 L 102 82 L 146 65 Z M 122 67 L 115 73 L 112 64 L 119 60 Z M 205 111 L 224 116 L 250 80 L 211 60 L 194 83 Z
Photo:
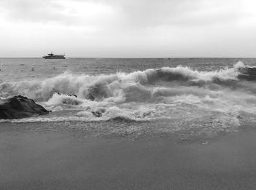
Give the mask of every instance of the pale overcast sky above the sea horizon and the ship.
M 0 57 L 255 58 L 255 0 L 0 0 Z

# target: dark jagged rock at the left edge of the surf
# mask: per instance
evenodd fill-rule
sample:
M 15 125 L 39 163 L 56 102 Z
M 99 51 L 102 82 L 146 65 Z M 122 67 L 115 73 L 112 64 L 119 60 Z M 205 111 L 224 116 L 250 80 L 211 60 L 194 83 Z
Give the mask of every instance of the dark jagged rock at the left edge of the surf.
M 44 107 L 21 95 L 0 99 L 0 119 L 21 119 L 35 114 L 48 114 Z

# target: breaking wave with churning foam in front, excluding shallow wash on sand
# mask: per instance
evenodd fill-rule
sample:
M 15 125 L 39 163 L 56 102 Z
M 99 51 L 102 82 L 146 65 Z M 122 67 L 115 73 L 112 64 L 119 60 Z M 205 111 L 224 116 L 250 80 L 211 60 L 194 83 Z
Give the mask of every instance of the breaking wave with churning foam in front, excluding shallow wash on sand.
M 129 112 L 121 115 L 124 118 L 141 119 L 136 114 L 143 108 L 151 111 L 148 115 L 142 111 L 143 119 L 182 117 L 197 111 L 200 116 L 208 110 L 255 113 L 255 72 L 238 62 L 218 71 L 178 66 L 98 76 L 64 73 L 42 81 L 2 82 L 0 97 L 24 95 L 49 110 L 85 111 L 87 117 L 105 108 L 101 113 L 105 120 L 120 116 L 119 112 Z

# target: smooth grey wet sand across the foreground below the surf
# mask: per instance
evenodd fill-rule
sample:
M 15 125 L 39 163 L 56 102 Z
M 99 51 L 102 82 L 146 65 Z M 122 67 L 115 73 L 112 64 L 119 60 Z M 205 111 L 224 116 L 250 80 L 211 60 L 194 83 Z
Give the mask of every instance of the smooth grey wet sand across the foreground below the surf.
M 255 189 L 256 131 L 203 145 L 0 124 L 0 189 Z

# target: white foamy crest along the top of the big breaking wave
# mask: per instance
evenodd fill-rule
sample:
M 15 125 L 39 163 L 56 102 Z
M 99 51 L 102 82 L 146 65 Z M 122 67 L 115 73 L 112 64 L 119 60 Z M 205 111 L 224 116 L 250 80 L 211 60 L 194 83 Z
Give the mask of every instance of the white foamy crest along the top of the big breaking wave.
M 170 80 L 211 82 L 214 79 L 237 80 L 238 68 L 244 64 L 239 62 L 233 68 L 219 71 L 196 71 L 189 67 L 148 69 L 135 71 L 130 74 L 116 73 L 110 75 L 76 75 L 71 73 L 60 74 L 43 81 L 4 82 L 0 84 L 0 97 L 25 95 L 37 101 L 47 101 L 54 93 L 63 95 L 77 95 L 80 99 L 108 99 L 112 102 L 125 101 L 125 90 L 130 87 L 139 87 L 139 84 L 151 83 L 166 76 Z M 166 79 L 165 79 L 166 80 Z M 168 82 L 168 81 L 167 81 Z M 142 85 L 140 85 L 143 88 Z

